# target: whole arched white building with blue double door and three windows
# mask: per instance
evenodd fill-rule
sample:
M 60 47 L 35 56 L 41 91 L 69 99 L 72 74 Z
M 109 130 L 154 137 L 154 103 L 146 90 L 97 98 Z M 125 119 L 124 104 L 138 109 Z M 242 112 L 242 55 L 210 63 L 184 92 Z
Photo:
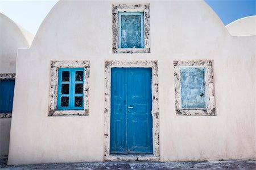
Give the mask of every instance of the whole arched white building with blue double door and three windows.
M 8 164 L 209 159 L 255 159 L 255 36 L 205 2 L 60 1 L 19 49 Z

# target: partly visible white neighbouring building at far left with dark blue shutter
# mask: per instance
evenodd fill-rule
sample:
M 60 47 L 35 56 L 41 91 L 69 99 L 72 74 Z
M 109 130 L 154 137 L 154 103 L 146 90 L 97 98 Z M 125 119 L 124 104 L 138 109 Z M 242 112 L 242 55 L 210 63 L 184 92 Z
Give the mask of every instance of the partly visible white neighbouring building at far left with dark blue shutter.
M 30 32 L 0 13 L 0 156 L 8 155 L 9 151 L 17 51 L 18 48 L 29 48 L 33 38 Z M 6 84 L 11 84 L 12 89 L 6 88 Z M 7 103 L 9 98 L 10 103 Z M 6 108 L 7 105 L 10 108 Z

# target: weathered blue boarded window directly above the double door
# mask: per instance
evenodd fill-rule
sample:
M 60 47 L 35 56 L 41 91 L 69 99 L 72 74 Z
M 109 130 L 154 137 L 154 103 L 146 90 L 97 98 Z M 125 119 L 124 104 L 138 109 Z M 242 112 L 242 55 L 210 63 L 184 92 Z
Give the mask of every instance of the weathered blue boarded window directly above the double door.
M 118 13 L 118 48 L 144 48 L 144 13 Z

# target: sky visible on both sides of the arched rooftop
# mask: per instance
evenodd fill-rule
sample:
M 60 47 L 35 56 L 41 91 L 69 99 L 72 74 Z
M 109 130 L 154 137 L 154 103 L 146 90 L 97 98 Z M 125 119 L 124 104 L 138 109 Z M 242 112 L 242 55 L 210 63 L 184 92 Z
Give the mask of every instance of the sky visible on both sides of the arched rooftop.
M 256 0 L 205 0 L 226 25 L 245 16 L 256 15 Z M 0 0 L 0 13 L 5 14 L 32 34 L 36 34 L 43 19 L 57 3 L 44 1 Z

